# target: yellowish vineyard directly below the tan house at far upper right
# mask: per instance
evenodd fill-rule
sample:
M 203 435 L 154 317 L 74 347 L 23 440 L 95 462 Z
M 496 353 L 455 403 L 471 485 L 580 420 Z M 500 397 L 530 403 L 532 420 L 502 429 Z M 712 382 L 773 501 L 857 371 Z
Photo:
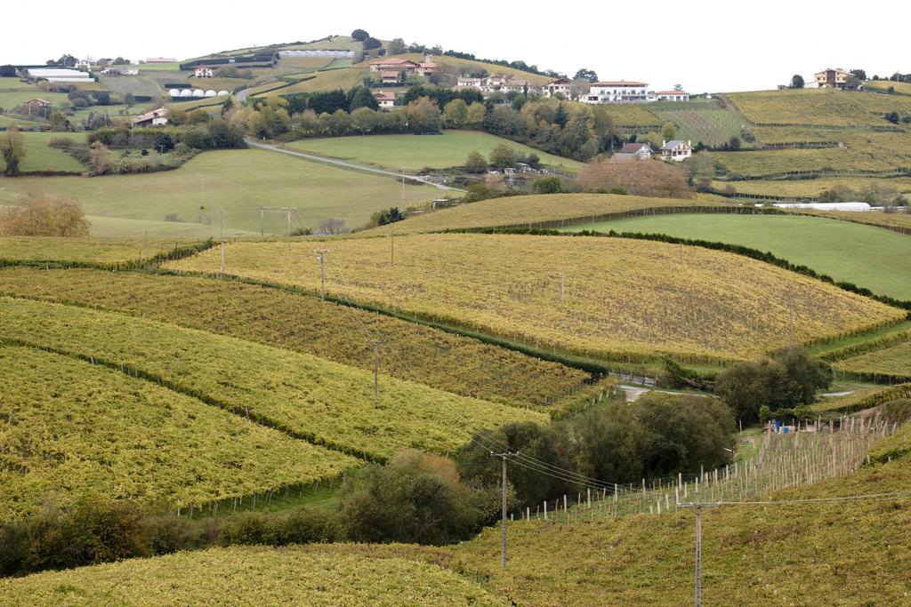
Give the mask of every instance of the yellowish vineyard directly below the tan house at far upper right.
M 911 112 L 911 98 L 834 89 L 791 89 L 727 96 L 757 126 L 889 126 L 886 112 Z

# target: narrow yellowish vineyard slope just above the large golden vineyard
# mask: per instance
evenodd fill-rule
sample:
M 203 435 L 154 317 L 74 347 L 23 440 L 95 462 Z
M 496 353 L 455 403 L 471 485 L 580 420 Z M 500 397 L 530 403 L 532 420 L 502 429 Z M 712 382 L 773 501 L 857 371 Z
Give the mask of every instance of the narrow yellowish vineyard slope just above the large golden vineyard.
M 373 228 L 365 234 L 403 234 L 444 229 L 526 226 L 564 219 L 584 219 L 648 208 L 715 206 L 701 199 L 650 198 L 616 194 L 544 194 L 502 197 L 445 208 Z

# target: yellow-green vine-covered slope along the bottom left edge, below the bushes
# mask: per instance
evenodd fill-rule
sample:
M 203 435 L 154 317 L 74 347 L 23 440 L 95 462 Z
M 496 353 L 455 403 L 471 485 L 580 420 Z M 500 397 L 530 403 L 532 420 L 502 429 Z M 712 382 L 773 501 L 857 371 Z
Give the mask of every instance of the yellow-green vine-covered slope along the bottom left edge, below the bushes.
M 31 604 L 508 604 L 476 583 L 427 562 L 301 547 L 182 552 L 38 573 L 0 581 L 0 592 L 12 602 Z

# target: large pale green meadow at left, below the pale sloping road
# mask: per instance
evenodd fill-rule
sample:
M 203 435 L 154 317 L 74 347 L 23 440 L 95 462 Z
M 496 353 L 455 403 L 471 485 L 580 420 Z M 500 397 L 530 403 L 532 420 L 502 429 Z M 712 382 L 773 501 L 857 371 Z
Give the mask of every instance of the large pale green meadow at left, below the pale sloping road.
M 394 177 L 254 149 L 206 152 L 178 169 L 146 175 L 5 179 L 0 181 L 0 204 L 12 203 L 26 187 L 75 197 L 88 215 L 160 222 L 176 213 L 189 224 L 199 224 L 201 218 L 218 228 L 214 202 L 227 211 L 226 228 L 255 232 L 260 231 L 259 206 L 297 207 L 292 228 L 317 229 L 326 218 L 340 218 L 348 228 L 357 228 L 377 210 L 424 203 L 439 191 L 408 186 L 402 200 L 401 184 Z M 200 206 L 205 209 L 200 211 Z M 285 222 L 281 213 L 266 213 L 265 230 L 282 234 Z

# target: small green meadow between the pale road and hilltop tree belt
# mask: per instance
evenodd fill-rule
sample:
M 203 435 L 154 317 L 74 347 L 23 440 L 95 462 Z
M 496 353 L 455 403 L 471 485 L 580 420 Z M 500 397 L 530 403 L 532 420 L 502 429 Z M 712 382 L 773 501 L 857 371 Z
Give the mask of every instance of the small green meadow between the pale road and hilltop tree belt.
M 371 135 L 363 137 L 330 137 L 303 139 L 288 144 L 292 149 L 353 160 L 389 168 L 416 171 L 422 168 L 448 168 L 465 165 L 469 153 L 477 150 L 485 158 L 499 145 L 506 145 L 521 155 L 536 154 L 541 163 L 563 170 L 576 170 L 585 165 L 576 160 L 553 156 L 502 137 L 480 131 L 447 130 L 443 135 Z

